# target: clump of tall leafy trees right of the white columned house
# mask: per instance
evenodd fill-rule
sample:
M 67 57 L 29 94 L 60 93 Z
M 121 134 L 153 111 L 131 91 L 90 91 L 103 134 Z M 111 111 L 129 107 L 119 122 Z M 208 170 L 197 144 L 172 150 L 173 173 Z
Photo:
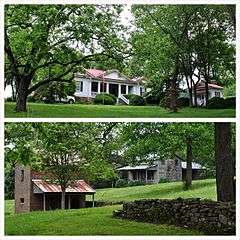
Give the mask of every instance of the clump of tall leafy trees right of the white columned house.
M 152 94 L 163 89 L 172 110 L 176 110 L 179 82 L 188 88 L 190 106 L 196 105 L 201 80 L 206 83 L 207 100 L 210 81 L 234 83 L 235 34 L 229 9 L 234 12 L 234 7 L 224 5 L 133 7 L 132 71 L 147 77 Z

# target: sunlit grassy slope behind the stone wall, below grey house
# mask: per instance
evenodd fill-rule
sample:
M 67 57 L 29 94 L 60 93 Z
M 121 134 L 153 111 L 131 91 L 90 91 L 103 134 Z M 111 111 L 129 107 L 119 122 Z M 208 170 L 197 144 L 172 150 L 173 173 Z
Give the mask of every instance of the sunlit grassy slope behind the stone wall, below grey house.
M 95 199 L 100 201 L 118 202 L 150 198 L 172 199 L 178 197 L 200 197 L 216 200 L 217 196 L 215 183 L 215 179 L 193 181 L 193 185 L 188 191 L 183 191 L 182 182 L 160 183 L 126 188 L 98 189 Z

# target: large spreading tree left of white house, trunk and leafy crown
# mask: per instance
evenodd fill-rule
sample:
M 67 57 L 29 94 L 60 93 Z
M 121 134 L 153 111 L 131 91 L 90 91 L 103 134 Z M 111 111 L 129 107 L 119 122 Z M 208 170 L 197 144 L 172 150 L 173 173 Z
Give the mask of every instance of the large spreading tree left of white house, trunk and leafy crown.
M 26 111 L 27 96 L 40 86 L 71 81 L 89 61 L 100 56 L 121 61 L 128 53 L 121 9 L 119 5 L 6 5 L 5 72 L 15 82 L 16 111 Z

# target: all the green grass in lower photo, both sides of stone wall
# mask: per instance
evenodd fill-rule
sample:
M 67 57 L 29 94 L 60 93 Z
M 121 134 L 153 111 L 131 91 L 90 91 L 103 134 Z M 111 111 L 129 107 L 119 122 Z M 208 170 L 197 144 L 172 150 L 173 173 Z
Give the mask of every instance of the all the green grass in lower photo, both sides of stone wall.
M 99 189 L 96 200 L 132 201 L 142 198 L 191 198 L 216 199 L 214 179 L 194 181 L 188 191 L 182 182 L 146 186 Z M 172 225 L 155 225 L 115 219 L 113 210 L 122 206 L 106 206 L 77 210 L 55 210 L 15 215 L 13 200 L 5 201 L 6 235 L 202 235 L 203 233 Z

